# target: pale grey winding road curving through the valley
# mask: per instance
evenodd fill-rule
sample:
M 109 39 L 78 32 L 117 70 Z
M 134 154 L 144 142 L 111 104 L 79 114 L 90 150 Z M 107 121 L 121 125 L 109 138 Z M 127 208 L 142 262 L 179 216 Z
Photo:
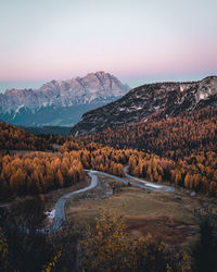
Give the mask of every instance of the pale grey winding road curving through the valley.
M 97 184 L 98 184 L 97 174 L 101 174 L 101 175 L 105 175 L 107 177 L 112 177 L 113 180 L 123 182 L 125 184 L 129 184 L 129 182 L 130 182 L 131 185 L 133 185 L 136 187 L 139 187 L 141 189 L 149 189 L 149 190 L 158 191 L 158 193 L 174 191 L 174 188 L 170 187 L 170 186 L 150 183 L 150 182 L 140 180 L 138 177 L 128 175 L 127 174 L 127 166 L 125 168 L 126 177 L 128 177 L 130 180 L 133 180 L 136 182 L 132 182 L 132 181 L 129 181 L 129 180 L 126 180 L 126 178 L 123 178 L 123 177 L 119 177 L 119 176 L 115 176 L 115 175 L 112 175 L 112 174 L 107 174 L 105 172 L 97 171 L 97 170 L 86 170 L 86 172 L 91 177 L 91 184 L 86 188 L 75 190 L 75 191 L 72 191 L 72 193 L 68 193 L 68 194 L 62 196 L 58 200 L 58 202 L 55 205 L 55 215 L 54 215 L 54 219 L 53 219 L 53 225 L 51 227 L 38 230 L 38 232 L 51 232 L 51 231 L 59 230 L 63 225 L 63 223 L 65 221 L 64 206 L 65 206 L 66 199 L 68 199 L 69 197 L 73 197 L 75 195 L 78 195 L 80 193 L 85 193 L 87 190 L 90 190 L 90 189 L 94 188 L 97 186 Z

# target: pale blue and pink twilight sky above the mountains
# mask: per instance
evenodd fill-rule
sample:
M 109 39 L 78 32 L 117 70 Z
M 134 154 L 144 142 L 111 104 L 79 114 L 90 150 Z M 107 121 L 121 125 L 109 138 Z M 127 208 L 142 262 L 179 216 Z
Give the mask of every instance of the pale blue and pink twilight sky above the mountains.
M 130 87 L 217 75 L 216 0 L 0 0 L 0 91 L 105 71 Z

